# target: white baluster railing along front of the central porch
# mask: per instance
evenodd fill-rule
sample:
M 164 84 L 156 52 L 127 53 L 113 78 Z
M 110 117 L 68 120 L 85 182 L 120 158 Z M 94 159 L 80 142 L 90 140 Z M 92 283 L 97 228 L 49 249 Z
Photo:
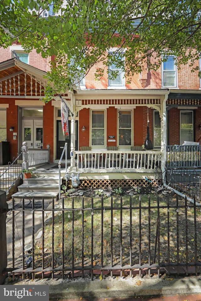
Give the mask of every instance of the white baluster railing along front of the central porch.
M 155 170 L 161 151 L 75 151 L 77 170 Z

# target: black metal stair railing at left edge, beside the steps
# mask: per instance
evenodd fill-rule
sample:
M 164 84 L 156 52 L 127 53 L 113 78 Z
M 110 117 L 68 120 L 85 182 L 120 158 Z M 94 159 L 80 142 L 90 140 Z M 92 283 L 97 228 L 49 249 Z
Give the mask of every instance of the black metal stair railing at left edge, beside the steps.
M 9 191 L 9 189 L 15 184 L 15 182 L 18 180 L 18 178 L 21 175 L 21 170 L 22 170 L 22 163 L 18 163 L 19 158 L 21 157 L 23 152 L 20 154 L 17 153 L 17 157 L 13 157 L 13 162 L 8 162 L 8 168 L 4 167 L 3 168 L 3 173 L 1 174 L 0 172 L 0 188 L 5 191 Z M 13 173 L 11 172 L 13 171 Z M 8 175 L 8 189 L 6 189 L 7 185 L 7 175 Z M 10 180 L 9 180 L 9 175 L 10 175 Z M 4 183 L 5 181 L 5 183 Z M 3 182 L 3 187 L 1 187 L 1 182 Z M 5 189 L 3 189 L 5 186 Z

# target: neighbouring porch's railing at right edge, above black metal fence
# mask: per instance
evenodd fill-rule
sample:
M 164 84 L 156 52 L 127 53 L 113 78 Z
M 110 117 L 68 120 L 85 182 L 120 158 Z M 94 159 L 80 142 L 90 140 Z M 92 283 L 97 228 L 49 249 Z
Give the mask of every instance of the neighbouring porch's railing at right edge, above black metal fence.
M 201 145 L 167 145 L 166 167 L 201 167 Z

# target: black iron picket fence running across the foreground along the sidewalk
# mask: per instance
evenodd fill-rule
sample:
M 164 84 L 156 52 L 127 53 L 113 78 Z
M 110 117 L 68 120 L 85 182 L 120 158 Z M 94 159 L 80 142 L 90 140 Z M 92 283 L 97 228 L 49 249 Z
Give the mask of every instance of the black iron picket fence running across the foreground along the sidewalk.
M 12 267 L 23 278 L 144 273 L 197 274 L 201 265 L 201 204 L 159 196 L 16 202 Z M 18 216 L 18 221 L 16 217 Z M 40 222 L 38 223 L 38 221 Z M 36 222 L 37 221 L 37 222 Z M 37 227 L 35 226 L 37 224 Z M 20 236 L 21 229 L 21 236 Z M 38 234 L 41 230 L 41 235 Z M 31 240 L 27 243 L 27 237 Z M 21 255 L 15 260 L 15 244 Z M 19 244 L 18 244 L 19 248 Z

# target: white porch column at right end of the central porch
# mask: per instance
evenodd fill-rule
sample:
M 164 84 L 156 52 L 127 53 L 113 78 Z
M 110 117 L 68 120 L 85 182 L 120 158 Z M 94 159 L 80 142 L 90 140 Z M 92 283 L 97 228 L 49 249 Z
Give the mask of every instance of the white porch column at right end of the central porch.
M 163 102 L 161 104 L 161 170 L 162 170 L 162 180 L 165 179 L 165 168 L 166 168 L 166 100 L 168 94 L 165 95 Z

